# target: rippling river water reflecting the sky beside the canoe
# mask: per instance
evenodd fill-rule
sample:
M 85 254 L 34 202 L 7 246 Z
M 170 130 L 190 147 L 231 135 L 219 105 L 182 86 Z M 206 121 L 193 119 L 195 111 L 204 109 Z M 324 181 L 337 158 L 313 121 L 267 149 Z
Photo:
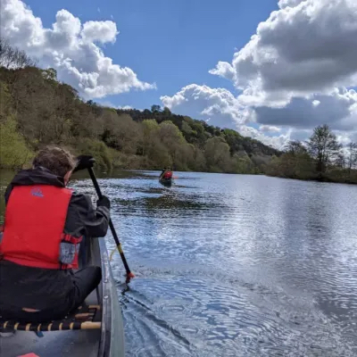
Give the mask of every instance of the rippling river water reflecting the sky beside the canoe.
M 113 255 L 128 357 L 357 355 L 357 187 L 158 175 L 99 180 L 136 274 Z

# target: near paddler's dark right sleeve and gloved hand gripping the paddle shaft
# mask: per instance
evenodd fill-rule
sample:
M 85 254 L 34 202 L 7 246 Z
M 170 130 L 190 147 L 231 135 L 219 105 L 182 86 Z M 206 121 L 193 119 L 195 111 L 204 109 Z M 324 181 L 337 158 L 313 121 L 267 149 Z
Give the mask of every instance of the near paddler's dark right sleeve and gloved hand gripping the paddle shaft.
M 104 206 L 93 207 L 89 196 L 73 193 L 64 227 L 66 233 L 79 237 L 104 237 L 109 227 L 110 212 Z

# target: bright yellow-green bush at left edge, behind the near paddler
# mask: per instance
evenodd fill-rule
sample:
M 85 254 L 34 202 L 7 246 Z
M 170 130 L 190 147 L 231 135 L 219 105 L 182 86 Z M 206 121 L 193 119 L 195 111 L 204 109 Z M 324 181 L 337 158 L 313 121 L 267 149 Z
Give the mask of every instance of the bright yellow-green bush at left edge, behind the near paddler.
M 0 168 L 21 168 L 33 157 L 12 117 L 0 122 Z

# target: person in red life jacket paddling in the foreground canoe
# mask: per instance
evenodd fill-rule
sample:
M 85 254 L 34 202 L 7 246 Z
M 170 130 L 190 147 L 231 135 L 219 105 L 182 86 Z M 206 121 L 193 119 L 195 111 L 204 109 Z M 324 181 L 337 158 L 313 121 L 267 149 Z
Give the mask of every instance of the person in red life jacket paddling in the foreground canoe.
M 0 234 L 0 318 L 22 322 L 60 320 L 84 302 L 101 281 L 101 268 L 78 268 L 83 239 L 104 237 L 110 201 L 66 188 L 73 170 L 91 167 L 49 146 L 29 170 L 21 170 L 5 192 Z M 93 158 L 92 158 L 93 159 Z M 83 244 L 83 243 L 82 243 Z

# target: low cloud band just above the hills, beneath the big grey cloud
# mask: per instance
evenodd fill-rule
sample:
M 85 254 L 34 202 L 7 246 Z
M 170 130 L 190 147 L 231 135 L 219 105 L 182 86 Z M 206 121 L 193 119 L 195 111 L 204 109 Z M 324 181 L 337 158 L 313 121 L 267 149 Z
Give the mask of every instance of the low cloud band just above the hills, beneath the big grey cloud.
M 175 95 L 162 96 L 161 100 L 173 112 L 207 120 L 210 125 L 221 128 L 237 129 L 244 136 L 278 148 L 284 147 L 290 138 L 309 137 L 312 127 L 326 122 L 341 142 L 352 139 L 357 132 L 357 93 L 354 90 L 334 90 L 329 95 L 312 95 L 310 99 L 293 98 L 286 107 L 274 108 L 243 106 L 225 88 L 191 84 Z M 252 123 L 261 125 L 254 129 Z

